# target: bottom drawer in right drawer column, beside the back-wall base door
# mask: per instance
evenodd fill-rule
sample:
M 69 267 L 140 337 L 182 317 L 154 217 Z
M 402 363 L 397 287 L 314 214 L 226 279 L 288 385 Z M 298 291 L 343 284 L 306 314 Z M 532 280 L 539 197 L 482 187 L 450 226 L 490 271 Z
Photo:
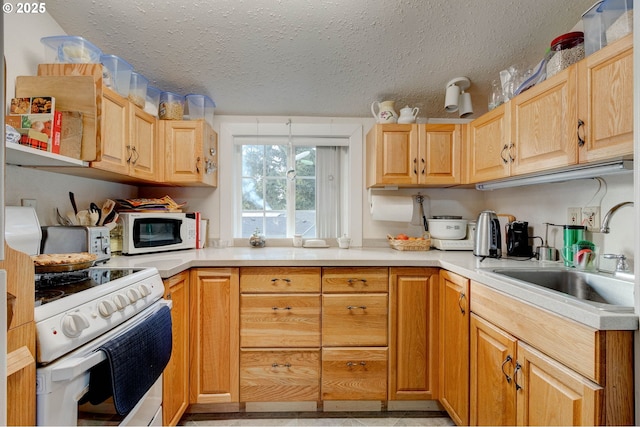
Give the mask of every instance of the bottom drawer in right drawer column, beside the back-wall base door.
M 322 400 L 386 399 L 386 348 L 322 350 Z

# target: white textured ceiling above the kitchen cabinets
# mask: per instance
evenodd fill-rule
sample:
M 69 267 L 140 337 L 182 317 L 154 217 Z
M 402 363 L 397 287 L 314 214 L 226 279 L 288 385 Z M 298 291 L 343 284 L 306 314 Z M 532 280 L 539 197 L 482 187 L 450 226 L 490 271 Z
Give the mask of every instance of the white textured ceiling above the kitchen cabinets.
M 203 93 L 216 114 L 367 117 L 373 101 L 419 117 L 471 79 L 477 117 L 491 81 L 533 66 L 594 0 L 64 0 L 67 34 L 118 55 L 163 90 Z

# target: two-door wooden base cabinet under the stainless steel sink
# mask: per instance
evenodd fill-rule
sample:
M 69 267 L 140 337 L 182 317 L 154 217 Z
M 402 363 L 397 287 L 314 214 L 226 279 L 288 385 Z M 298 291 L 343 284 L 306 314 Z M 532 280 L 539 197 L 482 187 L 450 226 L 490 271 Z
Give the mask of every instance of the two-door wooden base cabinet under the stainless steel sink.
M 474 281 L 471 292 L 471 425 L 633 424 L 633 331 L 592 329 Z

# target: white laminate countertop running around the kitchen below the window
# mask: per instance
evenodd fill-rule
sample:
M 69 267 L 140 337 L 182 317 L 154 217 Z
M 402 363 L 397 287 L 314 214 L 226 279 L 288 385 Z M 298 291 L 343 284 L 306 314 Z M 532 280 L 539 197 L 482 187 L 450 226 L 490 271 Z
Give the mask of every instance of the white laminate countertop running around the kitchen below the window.
M 559 266 L 557 262 L 514 260 L 508 258 L 481 261 L 470 251 L 397 251 L 391 248 L 294 248 L 227 247 L 163 252 L 149 255 L 113 256 L 107 267 L 155 267 L 168 278 L 194 267 L 440 267 L 483 283 L 538 308 L 568 317 L 601 330 L 638 329 L 633 312 L 601 310 L 564 294 L 536 285 L 500 280 L 487 270 L 498 267 Z M 630 283 L 630 286 L 634 286 Z M 471 288 L 473 294 L 473 286 Z M 473 296 L 471 297 L 473 298 Z M 630 302 L 632 303 L 632 302 Z

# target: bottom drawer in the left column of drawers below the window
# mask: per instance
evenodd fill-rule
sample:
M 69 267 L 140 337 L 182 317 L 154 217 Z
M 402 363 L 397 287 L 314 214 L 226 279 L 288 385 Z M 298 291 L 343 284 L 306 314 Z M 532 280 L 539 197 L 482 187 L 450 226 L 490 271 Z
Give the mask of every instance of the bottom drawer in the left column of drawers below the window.
M 240 401 L 319 400 L 320 350 L 243 350 Z

